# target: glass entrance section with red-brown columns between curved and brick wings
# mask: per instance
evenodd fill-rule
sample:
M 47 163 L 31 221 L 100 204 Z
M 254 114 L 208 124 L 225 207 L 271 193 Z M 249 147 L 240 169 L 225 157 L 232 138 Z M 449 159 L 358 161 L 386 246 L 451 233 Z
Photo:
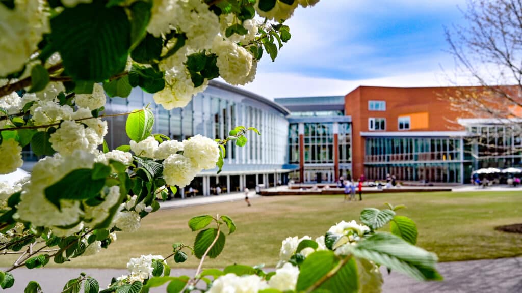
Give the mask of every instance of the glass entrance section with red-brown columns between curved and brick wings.
M 291 111 L 288 116 L 290 179 L 298 182 L 334 182 L 351 176 L 350 117 L 344 115 L 344 97 L 275 99 Z

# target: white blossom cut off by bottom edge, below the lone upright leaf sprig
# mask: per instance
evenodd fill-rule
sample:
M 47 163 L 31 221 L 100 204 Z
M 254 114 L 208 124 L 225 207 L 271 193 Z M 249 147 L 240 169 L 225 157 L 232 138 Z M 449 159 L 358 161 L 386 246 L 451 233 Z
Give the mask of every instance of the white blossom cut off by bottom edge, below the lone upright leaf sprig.
M 257 275 L 236 276 L 226 274 L 220 276 L 213 283 L 208 293 L 257 293 L 268 288 L 265 280 Z

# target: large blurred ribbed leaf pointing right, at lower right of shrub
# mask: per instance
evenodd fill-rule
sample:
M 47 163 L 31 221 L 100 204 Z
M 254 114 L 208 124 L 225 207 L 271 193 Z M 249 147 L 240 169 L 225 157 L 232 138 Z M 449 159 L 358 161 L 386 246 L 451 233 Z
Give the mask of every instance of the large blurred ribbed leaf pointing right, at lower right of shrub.
M 437 256 L 434 253 L 410 245 L 393 234 L 376 233 L 360 241 L 352 253 L 418 280 L 442 279 L 435 268 Z

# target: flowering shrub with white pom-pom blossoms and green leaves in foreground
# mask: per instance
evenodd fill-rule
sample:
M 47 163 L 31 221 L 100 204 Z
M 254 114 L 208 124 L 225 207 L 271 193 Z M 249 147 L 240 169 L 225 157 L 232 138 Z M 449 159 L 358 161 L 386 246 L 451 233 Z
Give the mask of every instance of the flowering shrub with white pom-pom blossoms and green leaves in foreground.
M 224 139 L 194 136 L 175 141 L 152 133 L 155 118 L 148 107 L 105 113 L 107 96 L 124 99 L 139 87 L 172 109 L 185 106 L 211 79 L 250 82 L 260 58 L 265 54 L 274 60 L 290 40 L 284 20 L 298 6 L 315 3 L 2 0 L 0 174 L 22 166 L 22 148 L 30 146 L 40 160 L 29 178 L 12 186 L 0 182 L 0 253 L 19 255 L 0 271 L 0 287 L 13 286 L 10 271 L 18 267 L 33 269 L 96 254 L 116 241 L 118 231 L 139 230 L 141 219 L 159 209 L 158 200 L 164 200 L 169 189 L 176 192 L 188 185 L 202 169 L 217 166 L 219 173 L 224 145 L 244 146 L 247 131 L 260 134 L 238 126 Z M 130 143 L 109 150 L 105 118 L 122 115 L 127 116 Z M 196 217 L 189 226 L 203 230 L 193 247 L 175 243 L 169 257 L 131 259 L 129 274 L 115 278 L 103 292 L 145 293 L 167 282 L 169 292 L 191 291 L 199 280 L 208 282 L 212 292 L 302 291 L 337 284 L 331 283 L 335 273 L 363 282 L 350 283 L 350 288 L 370 290 L 364 284 L 378 283 L 377 263 L 421 279 L 436 278 L 432 254 L 398 237 L 374 233 L 378 225 L 371 221 L 392 219 L 394 212 L 386 211 L 373 211 L 373 220 L 373 214 L 365 215 L 366 226 L 340 223 L 315 241 L 285 240 L 280 265 L 268 274 L 238 265 L 222 272 L 201 271 L 205 257 L 217 257 L 224 247 L 221 225 L 226 224 L 229 233 L 235 225 L 226 216 Z M 217 228 L 206 228 L 212 221 Z M 397 231 L 407 231 L 403 238 L 411 236 L 411 229 L 404 230 L 411 220 L 397 216 L 393 221 Z M 198 273 L 192 279 L 170 277 L 168 260 L 184 261 L 187 249 L 202 260 Z M 69 280 L 63 292 L 79 292 L 81 287 L 86 293 L 100 290 L 95 279 L 82 274 Z M 30 282 L 25 291 L 41 288 Z

